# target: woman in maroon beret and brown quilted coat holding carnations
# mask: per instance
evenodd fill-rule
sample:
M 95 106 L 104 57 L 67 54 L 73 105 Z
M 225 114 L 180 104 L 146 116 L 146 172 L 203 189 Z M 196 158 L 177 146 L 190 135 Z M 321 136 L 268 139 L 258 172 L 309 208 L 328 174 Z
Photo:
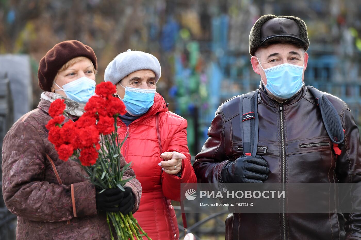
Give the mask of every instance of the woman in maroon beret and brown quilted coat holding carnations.
M 138 180 L 127 182 L 125 192 L 107 189 L 99 194 L 81 166 L 60 160 L 48 141 L 50 104 L 64 99 L 70 118 L 80 117 L 94 95 L 96 69 L 89 46 L 75 40 L 56 44 L 40 61 L 44 92 L 38 108 L 22 116 L 4 138 L 3 196 L 18 216 L 17 239 L 110 239 L 103 213 L 115 209 L 127 214 L 139 208 Z M 129 169 L 124 178 L 133 175 Z

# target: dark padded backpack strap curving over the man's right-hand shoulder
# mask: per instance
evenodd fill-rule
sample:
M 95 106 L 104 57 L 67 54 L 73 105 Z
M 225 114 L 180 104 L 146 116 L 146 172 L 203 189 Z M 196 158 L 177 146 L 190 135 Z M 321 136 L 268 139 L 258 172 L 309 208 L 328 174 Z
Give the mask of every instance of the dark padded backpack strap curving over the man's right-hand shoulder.
M 343 143 L 345 135 L 336 108 L 332 105 L 330 100 L 323 95 L 323 92 L 313 86 L 307 86 L 307 89 L 316 99 L 317 105 L 321 110 L 323 124 L 325 125 L 327 134 L 329 134 L 331 141 L 334 144 Z

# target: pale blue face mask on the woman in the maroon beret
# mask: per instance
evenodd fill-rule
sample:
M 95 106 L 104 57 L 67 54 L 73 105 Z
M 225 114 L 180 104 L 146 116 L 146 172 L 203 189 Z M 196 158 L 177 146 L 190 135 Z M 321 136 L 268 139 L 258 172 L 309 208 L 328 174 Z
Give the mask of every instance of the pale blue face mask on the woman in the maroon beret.
M 62 88 L 58 84 L 54 84 L 60 88 L 55 91 L 63 90 L 66 97 L 84 104 L 88 102 L 89 98 L 91 98 L 95 92 L 95 81 L 87 77 L 81 77 L 67 83 L 63 85 Z

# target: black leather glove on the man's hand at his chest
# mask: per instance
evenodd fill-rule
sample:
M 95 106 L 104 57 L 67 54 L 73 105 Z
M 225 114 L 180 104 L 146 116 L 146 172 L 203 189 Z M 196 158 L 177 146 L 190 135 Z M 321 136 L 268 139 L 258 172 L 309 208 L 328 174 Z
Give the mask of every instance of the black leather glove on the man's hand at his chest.
M 261 156 L 241 156 L 222 168 L 222 179 L 227 183 L 261 183 L 268 178 L 269 168 Z

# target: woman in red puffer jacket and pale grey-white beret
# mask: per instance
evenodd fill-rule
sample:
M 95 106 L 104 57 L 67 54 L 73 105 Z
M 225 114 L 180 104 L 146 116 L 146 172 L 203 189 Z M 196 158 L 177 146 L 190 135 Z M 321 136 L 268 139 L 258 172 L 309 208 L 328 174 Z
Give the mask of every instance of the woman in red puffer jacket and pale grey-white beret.
M 116 85 L 114 97 L 127 110 L 118 118 L 118 134 L 127 136 L 122 153 L 142 185 L 134 217 L 153 240 L 169 240 L 179 237 L 171 200 L 181 200 L 181 183 L 197 180 L 187 147 L 187 120 L 170 112 L 156 92 L 160 76 L 155 56 L 129 49 L 109 63 L 104 79 Z

